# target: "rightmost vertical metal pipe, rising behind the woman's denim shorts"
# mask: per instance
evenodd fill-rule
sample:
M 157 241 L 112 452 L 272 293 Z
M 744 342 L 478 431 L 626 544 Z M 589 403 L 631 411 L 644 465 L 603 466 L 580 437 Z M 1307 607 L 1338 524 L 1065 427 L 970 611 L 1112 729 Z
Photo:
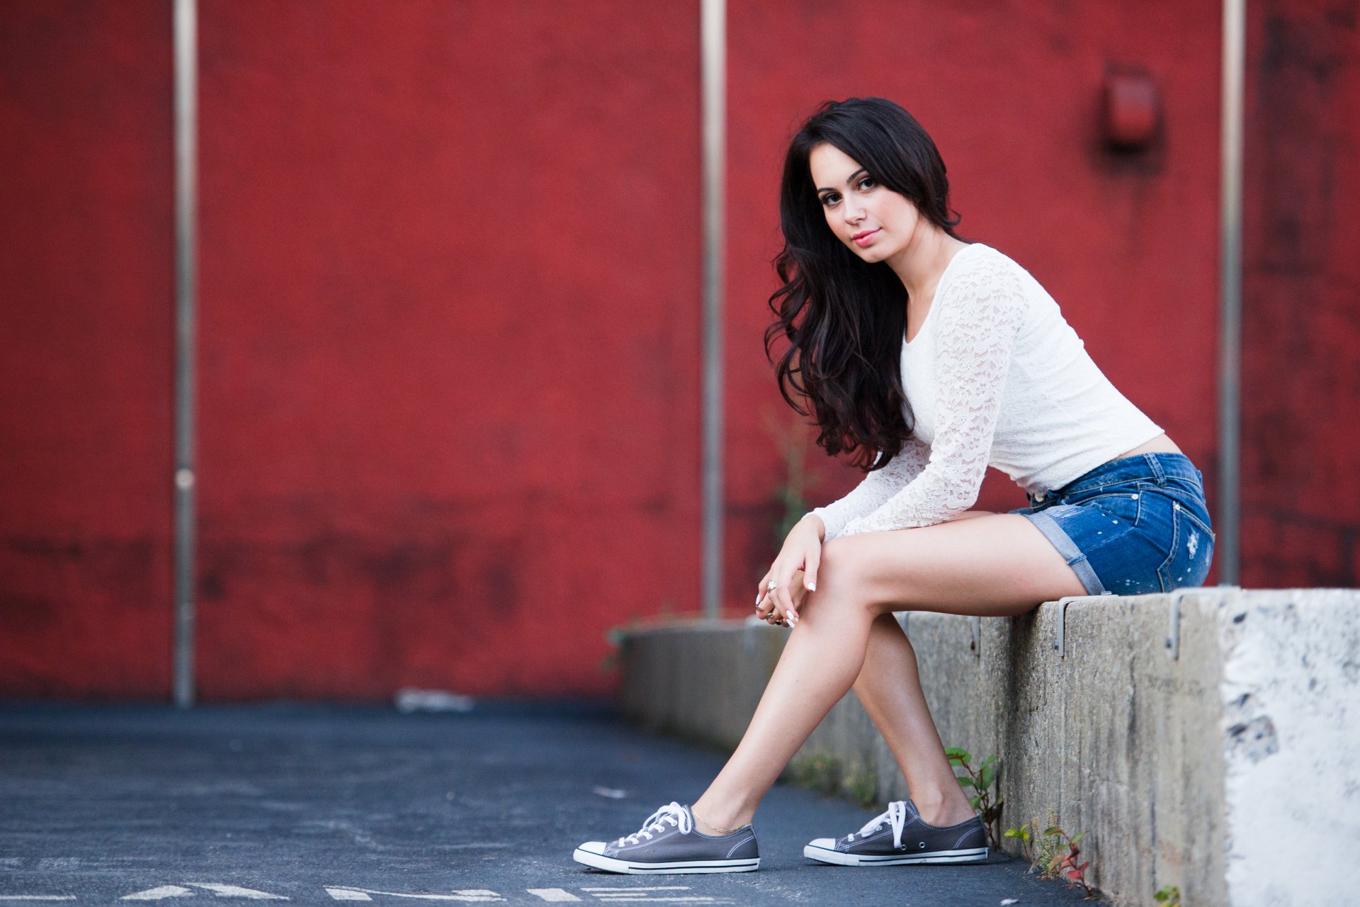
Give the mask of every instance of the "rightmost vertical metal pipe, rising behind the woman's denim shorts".
M 1242 524 L 1242 98 L 1246 0 L 1223 4 L 1219 219 L 1219 582 L 1238 585 Z

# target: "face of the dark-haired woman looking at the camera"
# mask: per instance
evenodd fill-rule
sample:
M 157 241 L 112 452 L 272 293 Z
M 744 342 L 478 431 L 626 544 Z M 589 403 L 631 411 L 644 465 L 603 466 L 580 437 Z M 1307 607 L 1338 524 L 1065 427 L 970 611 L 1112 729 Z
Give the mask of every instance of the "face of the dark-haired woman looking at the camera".
M 885 261 L 907 249 L 921 212 L 911 201 L 880 186 L 860 163 L 832 144 L 808 155 L 827 226 L 865 261 Z

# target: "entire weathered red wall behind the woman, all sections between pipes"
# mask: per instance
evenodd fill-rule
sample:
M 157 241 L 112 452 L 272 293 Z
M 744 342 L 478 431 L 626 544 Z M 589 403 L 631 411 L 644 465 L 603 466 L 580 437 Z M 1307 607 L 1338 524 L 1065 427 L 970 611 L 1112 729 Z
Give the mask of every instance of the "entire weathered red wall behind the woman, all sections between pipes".
M 698 606 L 699 4 L 199 5 L 201 695 L 608 689 L 611 626 Z M 1355 29 L 1253 4 L 1248 586 L 1356 582 Z M 1170 0 L 729 4 L 734 606 L 802 431 L 760 335 L 826 98 L 921 118 L 963 234 L 1216 510 L 1219 41 Z M 169 692 L 170 52 L 169 0 L 0 5 L 0 695 Z M 1149 151 L 1102 147 L 1110 65 L 1157 82 Z M 809 465 L 817 502 L 855 479 Z M 978 506 L 1020 503 L 996 473 Z

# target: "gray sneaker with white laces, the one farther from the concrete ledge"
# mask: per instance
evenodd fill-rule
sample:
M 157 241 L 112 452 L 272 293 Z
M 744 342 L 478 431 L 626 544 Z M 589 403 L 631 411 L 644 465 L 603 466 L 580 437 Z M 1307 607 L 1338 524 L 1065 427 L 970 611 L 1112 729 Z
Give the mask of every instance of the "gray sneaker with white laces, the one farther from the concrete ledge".
M 617 840 L 588 840 L 573 859 L 613 873 L 744 873 L 760 868 L 756 831 L 743 825 L 711 838 L 694 827 L 688 806 L 672 802 Z

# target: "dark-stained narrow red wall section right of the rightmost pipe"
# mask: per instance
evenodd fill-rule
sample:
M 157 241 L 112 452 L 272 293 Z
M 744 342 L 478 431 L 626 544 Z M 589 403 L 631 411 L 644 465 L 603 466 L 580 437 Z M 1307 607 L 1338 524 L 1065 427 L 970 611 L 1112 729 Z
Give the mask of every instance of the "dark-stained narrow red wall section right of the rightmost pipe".
M 1356 586 L 1360 5 L 1251 7 L 1242 585 Z

